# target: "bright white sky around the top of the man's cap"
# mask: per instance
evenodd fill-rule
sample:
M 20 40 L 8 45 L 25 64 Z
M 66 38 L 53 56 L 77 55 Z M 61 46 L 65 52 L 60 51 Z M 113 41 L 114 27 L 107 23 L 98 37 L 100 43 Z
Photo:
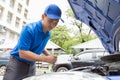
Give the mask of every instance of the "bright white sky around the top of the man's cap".
M 67 0 L 30 0 L 29 19 L 39 20 L 44 9 L 49 4 L 56 4 L 62 10 L 62 18 L 65 18 L 65 11 L 70 8 Z

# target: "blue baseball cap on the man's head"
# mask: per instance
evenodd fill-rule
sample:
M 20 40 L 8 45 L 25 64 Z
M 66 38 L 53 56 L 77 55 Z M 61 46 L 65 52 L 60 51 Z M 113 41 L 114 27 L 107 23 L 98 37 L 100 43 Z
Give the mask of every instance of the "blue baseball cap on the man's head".
M 45 8 L 44 14 L 46 14 L 50 19 L 61 19 L 61 9 L 55 5 L 50 4 Z

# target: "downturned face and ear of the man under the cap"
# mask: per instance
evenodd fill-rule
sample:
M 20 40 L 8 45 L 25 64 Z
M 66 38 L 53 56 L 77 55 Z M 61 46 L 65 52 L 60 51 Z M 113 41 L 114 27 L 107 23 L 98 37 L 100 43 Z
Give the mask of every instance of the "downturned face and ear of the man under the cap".
M 47 15 L 44 15 L 43 17 L 43 25 L 48 31 L 52 30 L 58 22 L 59 19 L 50 19 Z

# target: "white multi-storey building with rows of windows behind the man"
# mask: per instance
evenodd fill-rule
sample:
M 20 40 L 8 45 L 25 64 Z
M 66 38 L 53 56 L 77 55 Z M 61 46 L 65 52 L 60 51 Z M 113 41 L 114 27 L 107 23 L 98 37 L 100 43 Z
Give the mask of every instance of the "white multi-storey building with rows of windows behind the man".
M 28 12 L 29 0 L 0 0 L 0 45 L 17 42 Z

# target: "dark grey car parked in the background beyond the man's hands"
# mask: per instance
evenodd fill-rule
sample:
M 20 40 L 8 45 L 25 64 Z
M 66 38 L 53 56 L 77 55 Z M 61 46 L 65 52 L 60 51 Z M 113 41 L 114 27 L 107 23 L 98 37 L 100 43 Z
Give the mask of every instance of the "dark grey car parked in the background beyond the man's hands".
M 104 65 L 101 57 L 108 55 L 105 50 L 85 50 L 75 56 L 60 55 L 57 62 L 52 66 L 54 72 L 64 72 L 77 67 Z

